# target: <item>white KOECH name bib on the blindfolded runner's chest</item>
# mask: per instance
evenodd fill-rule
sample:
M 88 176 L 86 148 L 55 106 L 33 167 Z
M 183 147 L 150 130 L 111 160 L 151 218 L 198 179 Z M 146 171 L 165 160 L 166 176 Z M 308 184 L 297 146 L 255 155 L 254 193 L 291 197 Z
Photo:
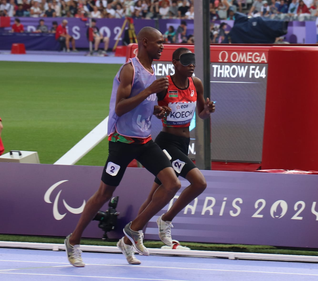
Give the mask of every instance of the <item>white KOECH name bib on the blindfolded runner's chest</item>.
M 169 103 L 168 106 L 172 110 L 167 116 L 167 124 L 182 125 L 191 121 L 197 102 Z

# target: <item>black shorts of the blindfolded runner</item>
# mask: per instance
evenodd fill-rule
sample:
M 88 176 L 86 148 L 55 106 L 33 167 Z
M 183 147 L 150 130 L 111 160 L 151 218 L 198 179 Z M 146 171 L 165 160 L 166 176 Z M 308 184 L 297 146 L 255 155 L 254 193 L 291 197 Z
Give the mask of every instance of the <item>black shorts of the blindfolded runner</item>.
M 155 139 L 155 143 L 163 150 L 165 149 L 171 156 L 172 167 L 177 177 L 186 177 L 187 173 L 196 168 L 196 165 L 188 157 L 190 138 L 180 137 L 167 132 L 160 132 Z M 161 184 L 156 177 L 155 182 Z

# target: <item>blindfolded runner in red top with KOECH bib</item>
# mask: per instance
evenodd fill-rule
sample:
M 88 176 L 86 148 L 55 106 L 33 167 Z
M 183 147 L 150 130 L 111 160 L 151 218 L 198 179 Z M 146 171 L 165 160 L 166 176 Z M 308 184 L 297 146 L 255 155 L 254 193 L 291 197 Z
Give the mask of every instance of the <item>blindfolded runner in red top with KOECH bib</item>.
M 210 102 L 209 98 L 204 100 L 201 80 L 192 77 L 196 67 L 195 54 L 187 48 L 178 48 L 172 55 L 172 63 L 175 74 L 167 76 L 169 87 L 157 94 L 158 105 L 165 109 L 166 116 L 162 119 L 163 128 L 155 142 L 162 150 L 165 149 L 169 153 L 176 174 L 187 179 L 190 185 L 184 189 L 169 211 L 157 219 L 159 237 L 168 246 L 172 245 L 172 219 L 206 188 L 203 174 L 188 157 L 189 126 L 194 110 L 197 107 L 198 116 L 202 119 L 210 117 L 210 114 L 215 111 L 214 103 Z M 156 177 L 149 196 L 140 207 L 139 213 L 148 208 L 160 185 L 161 180 Z M 131 244 L 127 238 L 124 238 L 123 242 Z

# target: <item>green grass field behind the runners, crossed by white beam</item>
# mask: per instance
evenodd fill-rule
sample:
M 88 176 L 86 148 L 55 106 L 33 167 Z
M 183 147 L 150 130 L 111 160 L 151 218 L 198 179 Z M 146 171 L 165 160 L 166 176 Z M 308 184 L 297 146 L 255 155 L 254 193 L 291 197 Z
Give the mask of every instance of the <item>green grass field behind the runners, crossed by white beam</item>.
M 5 151 L 38 151 L 53 164 L 108 116 L 119 64 L 0 62 Z M 76 164 L 103 166 L 105 139 Z

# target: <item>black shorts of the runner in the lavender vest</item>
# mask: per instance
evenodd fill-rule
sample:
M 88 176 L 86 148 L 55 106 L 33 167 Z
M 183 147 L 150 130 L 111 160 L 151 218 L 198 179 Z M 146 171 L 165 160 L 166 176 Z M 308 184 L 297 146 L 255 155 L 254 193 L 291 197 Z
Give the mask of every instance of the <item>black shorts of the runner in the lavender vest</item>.
M 133 159 L 139 161 L 154 176 L 164 168 L 171 167 L 168 157 L 153 140 L 146 144 L 125 144 L 119 141 L 110 141 L 108 158 L 101 176 L 103 183 L 118 186 L 128 164 Z

